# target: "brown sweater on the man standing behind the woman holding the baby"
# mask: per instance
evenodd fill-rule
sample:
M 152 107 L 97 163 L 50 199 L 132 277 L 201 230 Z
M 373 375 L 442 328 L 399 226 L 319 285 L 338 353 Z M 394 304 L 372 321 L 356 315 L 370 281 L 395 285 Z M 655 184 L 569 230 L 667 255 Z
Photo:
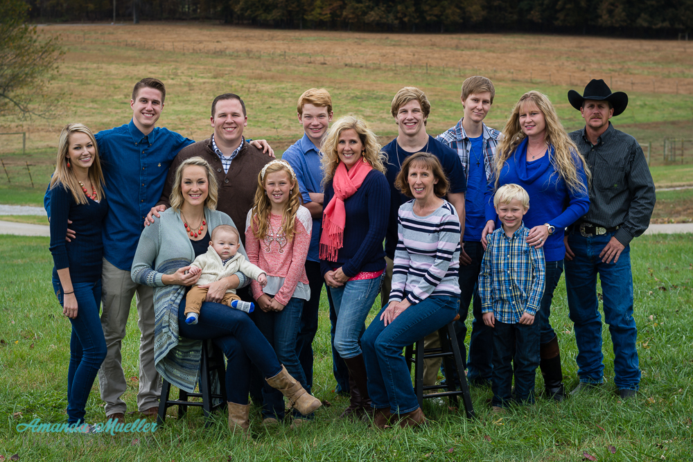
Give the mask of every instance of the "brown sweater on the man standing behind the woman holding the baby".
M 166 177 L 164 191 L 161 193 L 161 199 L 159 199 L 157 205 L 164 204 L 166 207 L 170 207 L 169 196 L 173 188 L 175 172 L 184 160 L 191 157 L 202 157 L 202 159 L 209 162 L 209 165 L 216 172 L 216 178 L 219 183 L 219 199 L 216 209 L 226 213 L 231 217 L 231 220 L 234 220 L 240 234 L 240 240 L 245 246 L 245 218 L 248 211 L 253 207 L 255 191 L 258 185 L 258 174 L 265 166 L 265 163 L 274 159 L 267 156 L 267 154 L 263 154 L 262 150 L 244 141 L 243 148 L 240 148 L 240 152 L 238 152 L 234 161 L 231 162 L 229 172 L 224 173 L 221 159 L 212 150 L 211 137 L 204 141 L 198 141 L 183 148 L 173 159 L 170 170 L 168 170 L 168 177 Z

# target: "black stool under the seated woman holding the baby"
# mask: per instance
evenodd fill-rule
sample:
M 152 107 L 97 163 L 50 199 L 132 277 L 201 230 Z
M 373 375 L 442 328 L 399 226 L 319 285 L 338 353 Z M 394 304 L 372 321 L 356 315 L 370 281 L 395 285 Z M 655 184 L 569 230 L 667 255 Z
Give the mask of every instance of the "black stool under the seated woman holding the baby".
M 209 345 L 208 345 L 209 344 Z M 211 348 L 209 348 L 211 346 Z M 219 371 L 219 384 L 221 394 L 212 393 L 212 375 L 213 371 Z M 226 380 L 225 380 L 224 355 L 222 351 L 214 346 L 211 341 L 202 341 L 202 358 L 200 359 L 200 393 L 188 393 L 185 390 L 179 390 L 177 400 L 169 400 L 171 384 L 164 379 L 161 385 L 161 400 L 159 401 L 159 414 L 157 415 L 157 424 L 163 425 L 166 420 L 166 409 L 170 406 L 178 406 L 178 418 L 183 418 L 188 406 L 202 407 L 204 411 L 204 426 L 211 425 L 211 412 L 220 407 L 225 406 L 226 398 Z M 188 401 L 188 398 L 202 398 L 202 402 Z M 213 399 L 220 399 L 221 402 L 216 405 L 212 404 Z

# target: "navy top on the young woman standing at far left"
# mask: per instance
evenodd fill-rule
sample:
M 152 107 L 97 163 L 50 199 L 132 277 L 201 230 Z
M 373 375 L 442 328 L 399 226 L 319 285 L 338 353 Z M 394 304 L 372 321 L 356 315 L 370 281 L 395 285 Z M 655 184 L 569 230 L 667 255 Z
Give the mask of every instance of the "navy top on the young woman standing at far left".
M 62 184 L 51 192 L 51 254 L 55 269 L 70 269 L 73 283 L 94 283 L 101 278 L 103 219 L 108 211 L 106 198 L 100 202 L 87 199 L 88 204 L 75 202 L 72 193 Z M 77 235 L 65 240 L 67 220 Z M 139 229 L 132 231 L 139 233 Z

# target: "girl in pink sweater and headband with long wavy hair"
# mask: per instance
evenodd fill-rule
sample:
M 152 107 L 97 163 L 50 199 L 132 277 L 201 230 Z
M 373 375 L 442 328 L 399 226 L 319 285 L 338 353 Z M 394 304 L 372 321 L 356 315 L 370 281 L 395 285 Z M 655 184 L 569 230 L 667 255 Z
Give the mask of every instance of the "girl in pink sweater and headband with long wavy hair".
M 306 388 L 306 375 L 299 364 L 296 339 L 304 301 L 310 299 L 306 256 L 313 220 L 301 205 L 296 174 L 286 161 L 272 161 L 258 175 L 255 204 L 245 224 L 248 261 L 267 272 L 267 285 L 252 281 L 256 300 L 255 323 L 277 353 L 286 370 Z M 319 294 L 315 294 L 319 296 Z M 263 423 L 284 418 L 281 393 L 263 387 Z M 310 416 L 295 414 L 305 422 Z

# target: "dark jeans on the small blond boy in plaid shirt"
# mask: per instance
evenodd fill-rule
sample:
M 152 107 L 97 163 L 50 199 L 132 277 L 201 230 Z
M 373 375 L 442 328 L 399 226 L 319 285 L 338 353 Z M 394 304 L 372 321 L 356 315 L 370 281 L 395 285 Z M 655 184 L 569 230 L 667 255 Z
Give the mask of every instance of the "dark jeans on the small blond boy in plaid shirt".
M 498 319 L 493 328 L 493 378 L 491 405 L 506 407 L 511 400 L 534 403 L 534 376 L 539 366 L 539 323 L 505 324 Z M 512 362 L 512 364 L 511 364 Z M 515 375 L 515 391 L 511 396 Z

